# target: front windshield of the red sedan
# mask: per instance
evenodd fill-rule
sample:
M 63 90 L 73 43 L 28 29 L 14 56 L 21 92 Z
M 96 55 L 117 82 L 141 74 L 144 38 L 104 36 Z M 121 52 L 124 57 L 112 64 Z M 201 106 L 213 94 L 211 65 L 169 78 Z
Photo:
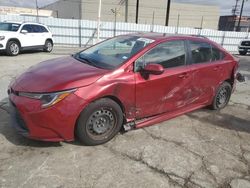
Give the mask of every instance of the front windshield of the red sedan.
M 75 58 L 102 69 L 115 69 L 152 42 L 139 36 L 119 36 L 90 47 Z

